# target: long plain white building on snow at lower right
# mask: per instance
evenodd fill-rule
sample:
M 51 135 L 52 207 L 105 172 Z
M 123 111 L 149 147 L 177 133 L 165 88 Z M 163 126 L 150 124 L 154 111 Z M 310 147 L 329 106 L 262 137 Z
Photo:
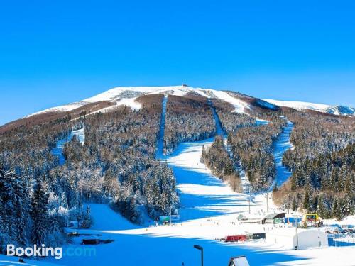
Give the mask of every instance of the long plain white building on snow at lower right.
M 315 248 L 328 246 L 328 237 L 319 229 L 278 228 L 266 233 L 266 242 L 290 249 Z

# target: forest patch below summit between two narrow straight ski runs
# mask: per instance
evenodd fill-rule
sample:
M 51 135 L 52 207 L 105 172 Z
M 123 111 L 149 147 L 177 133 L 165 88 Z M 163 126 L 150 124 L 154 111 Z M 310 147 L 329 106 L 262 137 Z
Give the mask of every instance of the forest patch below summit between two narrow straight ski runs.
M 212 111 L 207 98 L 195 94 L 168 96 L 164 153 L 172 153 L 183 141 L 210 138 L 216 133 Z

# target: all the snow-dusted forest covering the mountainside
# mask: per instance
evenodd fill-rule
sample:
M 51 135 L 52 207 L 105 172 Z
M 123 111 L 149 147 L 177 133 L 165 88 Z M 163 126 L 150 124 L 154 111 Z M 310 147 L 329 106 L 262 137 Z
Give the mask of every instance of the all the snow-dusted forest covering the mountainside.
M 68 221 L 92 220 L 84 202 L 109 204 L 133 223 L 179 208 L 173 170 L 157 160 L 163 94 L 138 96 L 137 101 L 142 109 L 136 111 L 119 106 L 87 115 L 111 106 L 100 102 L 60 116 L 49 113 L 53 119 L 40 114 L 1 128 L 0 253 L 6 243 L 67 243 Z M 253 192 L 273 183 L 273 143 L 285 126 L 284 115 L 295 125 L 290 135 L 295 148 L 283 156 L 292 176 L 273 189 L 275 203 L 317 211 L 322 218 L 354 214 L 355 118 L 288 108 L 271 111 L 252 104 L 244 114 L 199 94 L 168 95 L 163 152 L 216 135 L 213 109 L 227 142 L 218 135 L 203 148 L 201 161 L 234 191 L 241 191 L 238 167 L 246 172 Z M 256 118 L 268 124 L 257 126 Z M 65 164 L 60 165 L 51 149 L 80 128 L 84 145 L 73 137 L 65 144 Z

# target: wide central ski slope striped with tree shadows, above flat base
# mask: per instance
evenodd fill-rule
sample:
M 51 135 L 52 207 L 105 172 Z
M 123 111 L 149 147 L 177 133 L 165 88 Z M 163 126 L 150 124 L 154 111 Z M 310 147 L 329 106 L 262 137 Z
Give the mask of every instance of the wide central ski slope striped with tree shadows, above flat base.
M 181 143 L 166 157 L 176 177 L 182 221 L 243 212 L 249 204 L 244 194 L 233 192 L 200 162 L 202 146 L 213 140 Z

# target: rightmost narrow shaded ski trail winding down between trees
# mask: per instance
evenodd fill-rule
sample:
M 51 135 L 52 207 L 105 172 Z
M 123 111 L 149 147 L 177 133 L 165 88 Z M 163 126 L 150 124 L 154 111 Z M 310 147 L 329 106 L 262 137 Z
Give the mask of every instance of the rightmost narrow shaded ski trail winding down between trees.
M 280 187 L 292 174 L 292 172 L 283 166 L 283 154 L 286 150 L 293 149 L 293 145 L 290 143 L 290 133 L 293 131 L 293 123 L 288 118 L 283 118 L 287 120 L 287 126 L 283 128 L 283 132 L 280 133 L 278 140 L 274 143 L 273 157 L 275 158 L 276 177 L 270 190 L 273 189 L 275 184 Z

